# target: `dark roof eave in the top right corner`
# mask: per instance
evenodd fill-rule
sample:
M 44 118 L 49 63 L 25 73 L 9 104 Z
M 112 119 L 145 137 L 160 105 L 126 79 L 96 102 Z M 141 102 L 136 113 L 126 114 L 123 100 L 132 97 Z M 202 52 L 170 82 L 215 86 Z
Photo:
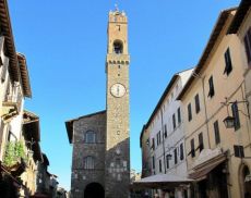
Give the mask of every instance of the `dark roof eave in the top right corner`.
M 250 0 L 242 0 L 238 7 L 236 15 L 231 22 L 231 25 L 228 28 L 227 34 L 236 34 L 244 20 L 248 11 L 250 10 L 251 1 Z

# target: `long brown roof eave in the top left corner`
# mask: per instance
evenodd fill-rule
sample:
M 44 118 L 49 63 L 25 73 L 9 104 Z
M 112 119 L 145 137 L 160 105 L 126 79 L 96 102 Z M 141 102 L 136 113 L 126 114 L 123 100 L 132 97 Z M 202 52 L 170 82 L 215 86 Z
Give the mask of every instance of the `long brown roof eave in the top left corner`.
M 11 78 L 15 82 L 20 82 L 20 67 L 17 65 L 17 57 L 7 0 L 0 0 L 0 29 L 5 38 L 7 55 L 10 58 Z

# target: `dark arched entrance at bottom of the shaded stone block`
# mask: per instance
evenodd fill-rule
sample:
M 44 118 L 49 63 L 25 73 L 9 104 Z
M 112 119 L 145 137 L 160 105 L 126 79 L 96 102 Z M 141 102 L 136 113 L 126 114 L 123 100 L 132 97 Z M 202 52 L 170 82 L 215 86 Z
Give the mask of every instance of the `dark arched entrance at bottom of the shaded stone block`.
M 105 198 L 105 190 L 98 183 L 91 183 L 84 189 L 84 198 Z

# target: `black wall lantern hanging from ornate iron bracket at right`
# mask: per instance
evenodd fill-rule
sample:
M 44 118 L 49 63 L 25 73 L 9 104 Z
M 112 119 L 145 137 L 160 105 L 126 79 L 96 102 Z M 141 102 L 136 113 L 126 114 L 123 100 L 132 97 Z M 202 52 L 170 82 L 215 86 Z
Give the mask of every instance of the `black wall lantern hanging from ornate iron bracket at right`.
M 226 101 L 225 102 L 220 102 L 220 103 L 223 103 L 224 106 L 227 107 L 227 116 L 223 120 L 226 128 L 234 128 L 235 124 L 236 124 L 236 117 L 229 115 L 229 112 L 228 112 L 228 106 L 229 104 L 236 103 L 238 106 L 239 103 L 246 103 L 247 104 L 247 109 L 248 109 L 248 114 L 243 113 L 241 110 L 238 110 L 238 111 L 240 111 L 243 115 L 246 115 L 247 117 L 250 119 L 249 101 L 247 101 L 247 100 L 237 101 L 236 100 L 235 102 L 228 102 L 227 98 L 225 98 L 225 99 L 226 99 Z

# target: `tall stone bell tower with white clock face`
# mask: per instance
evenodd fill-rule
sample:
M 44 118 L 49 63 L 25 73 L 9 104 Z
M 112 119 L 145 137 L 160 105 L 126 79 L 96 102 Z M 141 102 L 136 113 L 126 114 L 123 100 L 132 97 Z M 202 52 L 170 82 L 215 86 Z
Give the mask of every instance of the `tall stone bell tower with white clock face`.
M 106 156 L 107 198 L 128 198 L 130 184 L 128 18 L 109 12 L 106 57 Z

